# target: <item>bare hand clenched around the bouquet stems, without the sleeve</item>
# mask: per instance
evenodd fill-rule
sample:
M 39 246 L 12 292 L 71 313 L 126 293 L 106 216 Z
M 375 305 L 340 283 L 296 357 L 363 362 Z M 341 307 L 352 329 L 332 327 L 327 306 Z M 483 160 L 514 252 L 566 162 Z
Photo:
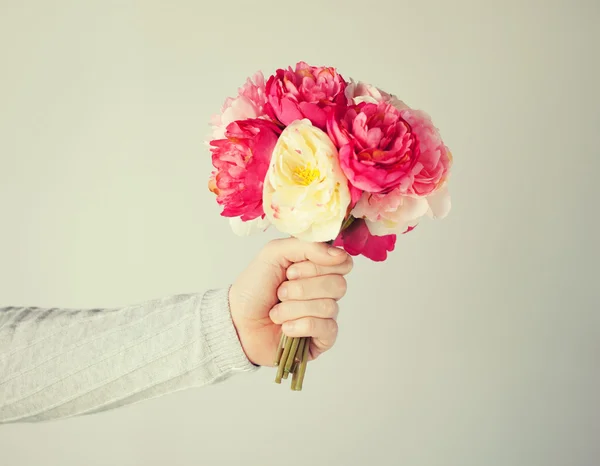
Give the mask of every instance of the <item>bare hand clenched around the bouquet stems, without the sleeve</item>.
M 248 359 L 273 366 L 282 330 L 290 337 L 313 337 L 310 359 L 331 348 L 338 331 L 337 302 L 346 294 L 344 275 L 352 266 L 350 255 L 326 244 L 294 238 L 267 244 L 229 291 L 233 323 Z

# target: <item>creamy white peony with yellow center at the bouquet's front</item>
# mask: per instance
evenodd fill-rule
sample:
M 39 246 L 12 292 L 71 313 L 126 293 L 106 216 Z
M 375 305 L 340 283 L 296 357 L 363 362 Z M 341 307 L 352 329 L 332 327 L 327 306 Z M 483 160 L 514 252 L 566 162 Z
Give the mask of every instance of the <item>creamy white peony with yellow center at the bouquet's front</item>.
M 335 239 L 350 205 L 337 149 L 308 119 L 289 125 L 273 149 L 263 208 L 281 232 L 306 241 Z

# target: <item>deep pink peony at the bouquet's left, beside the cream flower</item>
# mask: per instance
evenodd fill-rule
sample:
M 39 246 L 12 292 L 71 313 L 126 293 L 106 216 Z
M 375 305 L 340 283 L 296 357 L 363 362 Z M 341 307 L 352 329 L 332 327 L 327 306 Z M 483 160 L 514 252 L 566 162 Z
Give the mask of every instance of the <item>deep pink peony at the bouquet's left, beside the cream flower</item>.
M 225 139 L 211 141 L 213 172 L 209 189 L 224 217 L 246 222 L 264 216 L 263 183 L 281 130 L 268 120 L 235 121 Z

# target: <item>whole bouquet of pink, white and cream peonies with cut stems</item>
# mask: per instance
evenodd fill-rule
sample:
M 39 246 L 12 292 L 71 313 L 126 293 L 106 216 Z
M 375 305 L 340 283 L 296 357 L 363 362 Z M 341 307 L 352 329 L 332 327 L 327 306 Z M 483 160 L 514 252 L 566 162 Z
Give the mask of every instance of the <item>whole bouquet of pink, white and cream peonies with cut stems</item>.
M 209 188 L 238 235 L 274 227 L 383 261 L 450 210 L 452 156 L 430 117 L 335 68 L 258 72 L 212 126 Z M 309 343 L 282 335 L 277 383 L 302 389 Z

